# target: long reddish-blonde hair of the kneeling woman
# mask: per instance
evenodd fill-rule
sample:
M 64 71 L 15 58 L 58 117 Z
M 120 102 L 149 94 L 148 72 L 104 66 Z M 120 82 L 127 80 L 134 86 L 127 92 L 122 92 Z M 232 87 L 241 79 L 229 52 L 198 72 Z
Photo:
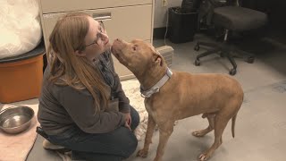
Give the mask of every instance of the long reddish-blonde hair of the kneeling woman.
M 56 22 L 49 37 L 47 60 L 50 65 L 49 82 L 68 85 L 73 89 L 88 89 L 94 98 L 96 110 L 108 104 L 108 88 L 100 72 L 85 56 L 75 51 L 85 49 L 89 22 L 86 13 L 67 13 Z

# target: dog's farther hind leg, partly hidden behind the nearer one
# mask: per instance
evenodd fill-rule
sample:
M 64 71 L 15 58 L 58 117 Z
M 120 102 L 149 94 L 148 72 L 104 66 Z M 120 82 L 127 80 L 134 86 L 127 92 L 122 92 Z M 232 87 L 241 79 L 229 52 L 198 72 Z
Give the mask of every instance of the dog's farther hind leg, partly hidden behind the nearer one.
M 206 133 L 214 130 L 214 116 L 215 114 L 203 114 L 203 118 L 207 118 L 207 121 L 209 123 L 208 127 L 204 130 L 200 131 L 193 131 L 192 135 L 195 137 L 203 137 L 206 135 Z

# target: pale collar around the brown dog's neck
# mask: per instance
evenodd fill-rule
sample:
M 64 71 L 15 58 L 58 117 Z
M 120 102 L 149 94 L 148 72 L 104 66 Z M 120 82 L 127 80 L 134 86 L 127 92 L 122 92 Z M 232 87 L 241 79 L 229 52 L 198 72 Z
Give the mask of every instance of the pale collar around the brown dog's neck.
M 164 77 L 159 80 L 151 89 L 143 90 L 143 87 L 140 86 L 141 97 L 151 97 L 154 93 L 159 92 L 160 88 L 164 86 L 164 83 L 167 82 L 172 77 L 172 71 L 167 68 Z

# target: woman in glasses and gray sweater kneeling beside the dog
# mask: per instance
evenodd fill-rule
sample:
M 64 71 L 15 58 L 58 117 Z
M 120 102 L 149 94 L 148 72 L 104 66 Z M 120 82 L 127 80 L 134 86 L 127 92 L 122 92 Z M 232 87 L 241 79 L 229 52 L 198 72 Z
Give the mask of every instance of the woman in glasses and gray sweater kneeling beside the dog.
M 104 23 L 86 13 L 56 22 L 46 52 L 38 122 L 46 140 L 71 149 L 72 159 L 117 161 L 138 140 L 138 112 L 122 90 Z

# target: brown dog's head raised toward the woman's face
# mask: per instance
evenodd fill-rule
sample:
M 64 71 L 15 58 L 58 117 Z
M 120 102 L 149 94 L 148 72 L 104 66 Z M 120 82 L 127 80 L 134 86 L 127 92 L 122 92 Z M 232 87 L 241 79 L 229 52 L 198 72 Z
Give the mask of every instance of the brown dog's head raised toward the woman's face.
M 130 43 L 116 39 L 112 46 L 112 53 L 134 74 L 165 64 L 163 56 L 156 51 L 155 47 L 140 39 L 134 39 Z

